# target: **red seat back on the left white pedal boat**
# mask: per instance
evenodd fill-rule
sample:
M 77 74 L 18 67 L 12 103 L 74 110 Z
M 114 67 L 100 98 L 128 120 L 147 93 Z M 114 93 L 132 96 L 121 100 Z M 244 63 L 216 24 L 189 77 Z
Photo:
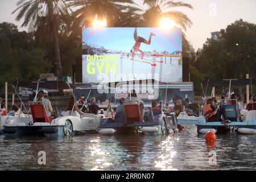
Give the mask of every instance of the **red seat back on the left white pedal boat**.
M 43 104 L 37 102 L 30 104 L 30 110 L 33 118 L 33 123 L 35 122 L 45 122 L 51 123 L 52 117 L 48 117 L 46 114 L 46 109 L 44 109 Z

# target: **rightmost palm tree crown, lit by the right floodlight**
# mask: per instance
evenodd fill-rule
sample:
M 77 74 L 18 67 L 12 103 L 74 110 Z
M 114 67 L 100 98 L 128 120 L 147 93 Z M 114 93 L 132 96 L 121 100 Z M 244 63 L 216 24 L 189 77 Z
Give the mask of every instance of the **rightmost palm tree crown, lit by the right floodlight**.
M 147 10 L 142 14 L 144 26 L 146 27 L 158 27 L 159 19 L 162 17 L 174 20 L 174 22 L 180 24 L 184 30 L 187 30 L 187 26 L 191 27 L 192 25 L 192 22 L 187 15 L 180 11 L 170 10 L 174 7 L 187 7 L 193 9 L 193 7 L 187 3 L 170 0 L 144 0 L 143 5 L 147 6 Z

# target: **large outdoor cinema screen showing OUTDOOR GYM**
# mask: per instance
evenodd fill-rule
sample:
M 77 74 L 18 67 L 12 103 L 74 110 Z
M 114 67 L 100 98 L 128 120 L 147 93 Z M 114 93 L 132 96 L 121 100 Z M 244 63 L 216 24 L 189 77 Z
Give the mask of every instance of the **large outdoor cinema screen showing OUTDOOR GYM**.
M 82 28 L 82 82 L 182 81 L 180 28 Z

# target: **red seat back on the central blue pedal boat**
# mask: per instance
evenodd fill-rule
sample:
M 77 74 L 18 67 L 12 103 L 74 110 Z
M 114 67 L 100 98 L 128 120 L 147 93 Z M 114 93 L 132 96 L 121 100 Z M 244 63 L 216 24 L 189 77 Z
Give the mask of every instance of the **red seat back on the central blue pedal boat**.
M 134 122 L 142 122 L 141 111 L 138 104 L 125 104 L 123 105 L 123 111 L 125 113 L 125 121 L 127 124 Z

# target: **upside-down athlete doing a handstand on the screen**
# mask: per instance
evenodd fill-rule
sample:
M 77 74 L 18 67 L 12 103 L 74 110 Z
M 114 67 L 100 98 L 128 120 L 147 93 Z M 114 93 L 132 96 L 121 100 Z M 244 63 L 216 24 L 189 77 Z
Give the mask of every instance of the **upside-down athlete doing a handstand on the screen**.
M 131 49 L 131 59 L 132 60 L 134 58 L 134 53 L 137 52 L 137 51 L 141 52 L 141 59 L 143 59 L 144 52 L 141 49 L 139 49 L 139 48 L 141 47 L 141 43 L 150 45 L 151 44 L 151 36 L 155 36 L 155 34 L 153 34 L 151 32 L 150 33 L 150 38 L 147 41 L 146 39 L 142 38 L 141 36 L 137 36 L 137 28 L 135 28 L 135 30 L 134 30 L 135 44 L 133 46 L 133 49 Z

